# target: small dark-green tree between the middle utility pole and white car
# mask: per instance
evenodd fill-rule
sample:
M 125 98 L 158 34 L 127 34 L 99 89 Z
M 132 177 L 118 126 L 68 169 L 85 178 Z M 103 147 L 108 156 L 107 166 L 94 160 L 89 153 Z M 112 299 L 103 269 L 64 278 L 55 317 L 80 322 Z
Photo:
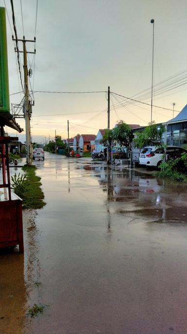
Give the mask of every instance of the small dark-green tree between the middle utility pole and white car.
M 113 128 L 113 140 L 115 140 L 123 149 L 125 146 L 130 156 L 132 149 L 133 133 L 131 127 L 123 121 L 119 121 L 117 126 Z

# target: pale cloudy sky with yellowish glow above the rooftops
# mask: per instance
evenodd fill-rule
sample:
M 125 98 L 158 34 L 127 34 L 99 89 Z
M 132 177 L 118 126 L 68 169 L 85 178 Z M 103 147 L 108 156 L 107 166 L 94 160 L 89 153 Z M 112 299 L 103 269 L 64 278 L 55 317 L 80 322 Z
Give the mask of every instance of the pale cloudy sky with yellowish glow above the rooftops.
M 9 24 L 7 17 L 9 89 L 14 94 L 22 89 L 12 41 L 10 0 L 5 3 L 10 20 Z M 4 7 L 4 0 L 0 6 Z M 119 120 L 148 125 L 150 105 L 125 97 L 151 103 L 151 19 L 153 104 L 173 109 L 175 103 L 174 116 L 187 104 L 186 0 L 14 0 L 14 10 L 18 38 L 22 39 L 24 29 L 25 38 L 33 40 L 36 26 L 36 57 L 28 55 L 28 68 L 33 70 L 30 90 L 35 99 L 33 141 L 47 143 L 54 139 L 55 130 L 67 138 L 68 120 L 70 137 L 97 134 L 99 128 L 106 128 L 108 86 L 112 92 L 111 128 Z M 34 43 L 27 43 L 27 51 L 34 51 Z M 20 61 L 22 67 L 22 54 Z M 19 104 L 22 98 L 23 93 L 10 95 L 10 103 Z M 172 115 L 172 110 L 152 109 L 156 123 L 166 122 Z M 25 128 L 24 119 L 17 122 Z M 7 132 L 17 134 L 10 128 Z M 22 142 L 24 133 L 17 134 Z

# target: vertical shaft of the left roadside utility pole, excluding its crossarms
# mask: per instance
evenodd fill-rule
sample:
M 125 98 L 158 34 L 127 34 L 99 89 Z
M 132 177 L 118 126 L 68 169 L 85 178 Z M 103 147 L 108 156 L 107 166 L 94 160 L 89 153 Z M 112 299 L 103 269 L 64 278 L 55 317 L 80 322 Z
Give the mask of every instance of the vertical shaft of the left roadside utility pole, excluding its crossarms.
M 25 106 L 25 132 L 26 132 L 26 162 L 27 165 L 31 165 L 31 129 L 30 129 L 30 119 L 29 119 L 29 89 L 28 89 L 28 71 L 27 71 L 27 50 L 26 50 L 26 41 L 23 42 L 23 69 L 24 69 L 24 106 Z

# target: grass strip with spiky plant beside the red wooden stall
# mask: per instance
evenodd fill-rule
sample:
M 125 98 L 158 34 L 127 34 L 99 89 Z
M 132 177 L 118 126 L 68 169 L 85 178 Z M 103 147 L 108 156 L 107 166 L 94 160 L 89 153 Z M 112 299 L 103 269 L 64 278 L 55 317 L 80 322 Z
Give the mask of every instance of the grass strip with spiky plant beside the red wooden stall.
M 40 188 L 40 177 L 36 175 L 35 166 L 24 166 L 22 170 L 25 172 L 24 177 L 12 176 L 12 187 L 14 192 L 23 200 L 23 209 L 41 209 L 46 204 L 44 193 Z

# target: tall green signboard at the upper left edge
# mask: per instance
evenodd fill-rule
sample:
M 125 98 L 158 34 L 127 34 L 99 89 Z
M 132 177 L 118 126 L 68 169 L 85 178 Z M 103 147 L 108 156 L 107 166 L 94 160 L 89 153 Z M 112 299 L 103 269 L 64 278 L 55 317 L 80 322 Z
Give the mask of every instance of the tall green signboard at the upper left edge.
M 0 7 L 0 114 L 5 112 L 10 112 L 6 12 L 4 7 Z

